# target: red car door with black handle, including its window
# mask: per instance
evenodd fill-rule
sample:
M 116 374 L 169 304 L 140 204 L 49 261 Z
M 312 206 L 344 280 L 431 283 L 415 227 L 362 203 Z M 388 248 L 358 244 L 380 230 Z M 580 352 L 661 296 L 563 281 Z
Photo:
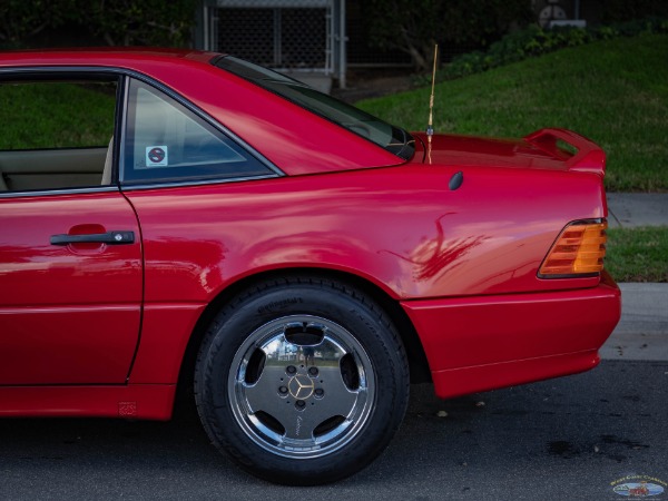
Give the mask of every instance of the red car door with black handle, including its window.
M 132 207 L 102 185 L 120 80 L 20 77 L 0 73 L 0 385 L 125 383 L 143 269 Z

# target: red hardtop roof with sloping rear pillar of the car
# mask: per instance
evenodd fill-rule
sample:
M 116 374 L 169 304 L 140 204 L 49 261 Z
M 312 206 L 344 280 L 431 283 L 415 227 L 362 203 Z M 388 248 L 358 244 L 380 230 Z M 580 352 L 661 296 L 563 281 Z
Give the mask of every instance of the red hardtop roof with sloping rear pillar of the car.
M 0 52 L 12 69 L 115 69 L 178 94 L 288 175 L 403 164 L 384 148 L 212 65 L 218 52 L 164 48 L 72 48 Z

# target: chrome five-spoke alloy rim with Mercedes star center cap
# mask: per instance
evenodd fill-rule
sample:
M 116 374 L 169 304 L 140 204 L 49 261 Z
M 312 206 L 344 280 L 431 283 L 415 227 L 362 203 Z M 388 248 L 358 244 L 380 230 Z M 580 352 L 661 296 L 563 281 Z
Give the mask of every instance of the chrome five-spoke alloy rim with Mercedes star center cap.
M 341 325 L 291 315 L 255 330 L 234 356 L 228 395 L 244 433 L 294 459 L 338 450 L 362 431 L 375 397 L 371 360 Z

